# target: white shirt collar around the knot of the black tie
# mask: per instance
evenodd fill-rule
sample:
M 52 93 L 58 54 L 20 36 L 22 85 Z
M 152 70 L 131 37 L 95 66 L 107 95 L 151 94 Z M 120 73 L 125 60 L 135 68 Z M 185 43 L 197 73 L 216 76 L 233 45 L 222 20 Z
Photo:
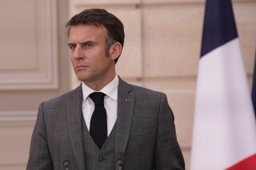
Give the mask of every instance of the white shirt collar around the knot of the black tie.
M 98 92 L 102 92 L 106 94 L 106 97 L 110 97 L 114 101 L 118 101 L 118 83 L 119 79 L 118 76 L 115 75 L 113 81 L 111 81 L 108 85 L 106 85 L 103 89 L 101 89 Z M 86 100 L 86 98 L 90 95 L 90 93 L 96 92 L 93 89 L 90 89 L 87 85 L 85 85 L 82 82 L 82 97 L 83 100 Z

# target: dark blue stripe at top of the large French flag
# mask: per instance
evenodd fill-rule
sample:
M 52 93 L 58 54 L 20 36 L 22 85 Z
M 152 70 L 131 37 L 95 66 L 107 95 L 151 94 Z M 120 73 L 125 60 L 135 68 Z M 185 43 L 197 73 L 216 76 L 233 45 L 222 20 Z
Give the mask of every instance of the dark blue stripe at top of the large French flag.
M 207 0 L 202 32 L 201 57 L 238 38 L 230 0 Z

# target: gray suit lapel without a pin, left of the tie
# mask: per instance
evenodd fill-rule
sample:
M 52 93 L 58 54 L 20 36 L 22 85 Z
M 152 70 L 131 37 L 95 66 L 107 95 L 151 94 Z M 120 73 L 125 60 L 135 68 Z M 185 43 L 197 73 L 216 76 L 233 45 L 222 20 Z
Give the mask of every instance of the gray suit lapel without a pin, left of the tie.
M 79 169 L 85 169 L 82 142 L 82 87 L 74 89 L 67 105 L 67 125 L 74 156 L 78 161 Z

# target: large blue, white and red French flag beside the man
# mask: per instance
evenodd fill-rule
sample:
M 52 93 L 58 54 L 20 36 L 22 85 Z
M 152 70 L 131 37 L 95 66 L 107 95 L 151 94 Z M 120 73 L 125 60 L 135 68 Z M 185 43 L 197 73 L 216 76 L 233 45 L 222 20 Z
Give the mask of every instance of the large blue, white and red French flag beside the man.
M 256 121 L 230 0 L 206 0 L 190 169 L 256 169 Z

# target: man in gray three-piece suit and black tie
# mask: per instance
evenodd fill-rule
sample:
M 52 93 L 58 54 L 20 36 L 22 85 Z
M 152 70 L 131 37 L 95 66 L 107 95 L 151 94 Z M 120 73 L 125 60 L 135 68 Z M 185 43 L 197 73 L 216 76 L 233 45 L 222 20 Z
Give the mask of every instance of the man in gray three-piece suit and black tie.
M 166 95 L 130 85 L 115 72 L 122 22 L 90 9 L 66 26 L 82 84 L 39 106 L 26 169 L 185 169 Z

